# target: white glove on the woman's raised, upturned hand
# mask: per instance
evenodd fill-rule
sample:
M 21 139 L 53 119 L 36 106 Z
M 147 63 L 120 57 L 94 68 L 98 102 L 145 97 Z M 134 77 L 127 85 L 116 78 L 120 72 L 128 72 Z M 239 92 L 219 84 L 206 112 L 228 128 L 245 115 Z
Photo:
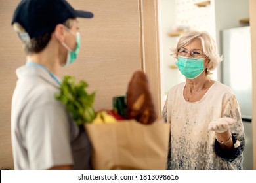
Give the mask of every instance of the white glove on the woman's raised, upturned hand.
M 227 131 L 232 125 L 236 123 L 236 120 L 232 118 L 218 118 L 209 123 L 208 130 L 215 131 L 217 133 L 223 133 Z

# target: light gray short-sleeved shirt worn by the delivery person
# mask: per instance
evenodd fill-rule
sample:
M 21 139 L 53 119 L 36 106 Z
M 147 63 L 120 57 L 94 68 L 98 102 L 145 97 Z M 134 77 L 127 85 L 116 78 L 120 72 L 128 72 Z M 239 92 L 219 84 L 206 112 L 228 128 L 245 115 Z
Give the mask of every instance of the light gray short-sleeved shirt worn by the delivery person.
M 56 80 L 37 65 L 22 66 L 16 75 L 11 112 L 14 169 L 91 169 L 91 144 L 56 100 Z

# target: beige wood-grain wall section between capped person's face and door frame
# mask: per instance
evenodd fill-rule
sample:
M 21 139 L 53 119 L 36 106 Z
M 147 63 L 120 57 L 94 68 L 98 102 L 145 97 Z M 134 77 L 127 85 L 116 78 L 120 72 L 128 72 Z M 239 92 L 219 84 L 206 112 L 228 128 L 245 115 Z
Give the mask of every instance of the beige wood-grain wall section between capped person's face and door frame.
M 142 69 L 138 0 L 87 0 L 70 3 L 93 12 L 79 19 L 81 51 L 78 60 L 63 69 L 96 91 L 95 109 L 112 108 L 112 97 L 125 95 L 133 71 Z

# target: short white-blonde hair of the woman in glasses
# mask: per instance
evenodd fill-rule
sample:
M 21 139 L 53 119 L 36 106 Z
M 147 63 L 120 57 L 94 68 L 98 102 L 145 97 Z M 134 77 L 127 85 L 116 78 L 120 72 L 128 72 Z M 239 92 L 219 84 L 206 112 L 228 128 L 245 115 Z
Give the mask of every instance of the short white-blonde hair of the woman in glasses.
M 188 31 L 182 35 L 179 39 L 176 48 L 174 48 L 173 54 L 178 55 L 179 48 L 182 48 L 189 44 L 194 39 L 199 39 L 202 44 L 203 53 L 209 58 L 209 64 L 207 67 L 207 75 L 211 74 L 210 71 L 216 69 L 216 67 L 223 61 L 223 57 L 219 56 L 216 42 L 206 31 Z

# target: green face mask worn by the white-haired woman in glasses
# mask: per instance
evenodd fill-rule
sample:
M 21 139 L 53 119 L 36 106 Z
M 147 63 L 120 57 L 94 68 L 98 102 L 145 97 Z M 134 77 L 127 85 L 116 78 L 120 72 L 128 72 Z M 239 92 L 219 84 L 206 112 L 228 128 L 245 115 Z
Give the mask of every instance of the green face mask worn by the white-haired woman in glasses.
M 188 79 L 194 79 L 198 77 L 205 70 L 203 67 L 203 58 L 188 58 L 184 56 L 178 56 L 177 67 Z

